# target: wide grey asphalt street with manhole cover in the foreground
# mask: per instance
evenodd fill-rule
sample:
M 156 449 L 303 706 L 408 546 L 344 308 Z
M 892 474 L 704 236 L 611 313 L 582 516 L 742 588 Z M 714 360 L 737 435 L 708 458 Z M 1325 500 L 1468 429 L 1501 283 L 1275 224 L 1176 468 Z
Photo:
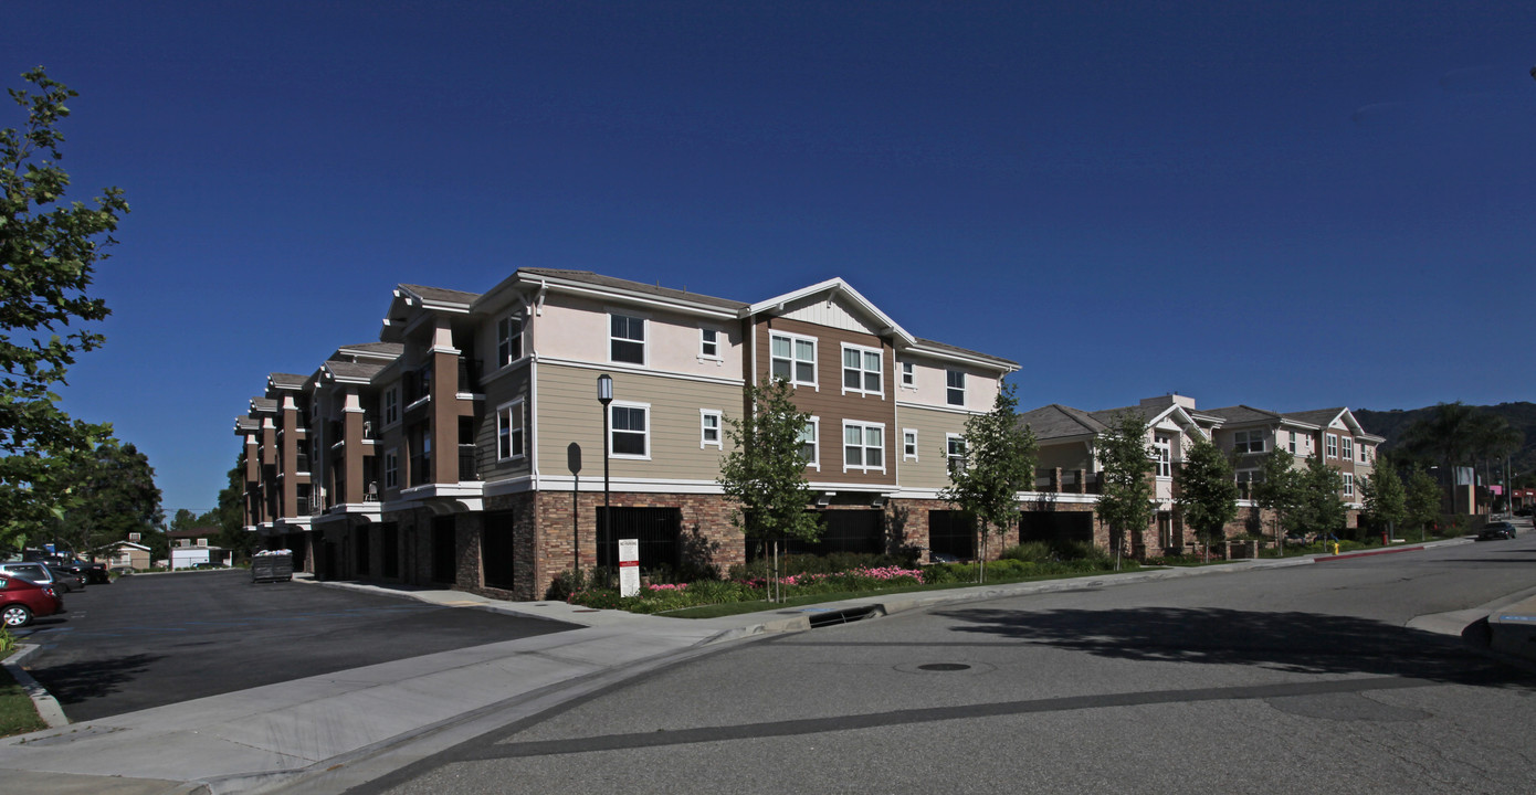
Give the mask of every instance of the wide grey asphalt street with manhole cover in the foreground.
M 1536 534 L 733 646 L 355 792 L 1536 792 L 1536 677 L 1410 620 Z

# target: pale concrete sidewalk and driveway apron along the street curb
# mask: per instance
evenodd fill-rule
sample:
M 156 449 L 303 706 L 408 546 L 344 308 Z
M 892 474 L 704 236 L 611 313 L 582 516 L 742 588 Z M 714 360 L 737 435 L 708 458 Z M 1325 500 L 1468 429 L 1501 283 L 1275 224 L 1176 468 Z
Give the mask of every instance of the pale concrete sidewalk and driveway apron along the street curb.
M 1395 551 L 1467 543 L 1465 539 Z M 581 625 L 0 740 L 0 781 L 31 793 L 343 792 L 416 758 L 723 645 L 845 612 L 894 614 L 1084 586 L 1301 566 L 1330 556 L 1104 574 L 833 602 L 710 620 L 499 602 L 459 591 L 315 583 Z M 1528 612 L 1518 612 L 1518 609 Z M 1473 619 L 1476 620 L 1476 619 Z M 1495 620 L 1498 623 L 1495 623 Z M 1536 629 L 1536 600 L 1490 626 Z M 1495 631 L 1499 637 L 1499 631 Z M 1522 635 L 1525 637 L 1525 635 Z M 409 638 L 402 638 L 409 642 Z M 1536 660 L 1536 643 L 1511 642 Z M 1518 652 L 1516 652 L 1518 654 Z

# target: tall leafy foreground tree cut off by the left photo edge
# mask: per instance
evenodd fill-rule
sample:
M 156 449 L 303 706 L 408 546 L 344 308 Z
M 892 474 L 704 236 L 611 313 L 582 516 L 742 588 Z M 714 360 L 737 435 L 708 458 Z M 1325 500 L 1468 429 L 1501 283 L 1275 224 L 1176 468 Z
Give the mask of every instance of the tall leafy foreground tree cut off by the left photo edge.
M 78 353 L 104 341 L 74 324 L 109 313 L 86 290 L 127 213 L 115 187 L 95 207 L 60 204 L 69 175 L 58 167 L 58 121 L 77 94 L 41 66 L 22 78 L 37 87 L 9 91 L 26 123 L 0 130 L 0 543 L 58 516 L 68 488 L 60 459 L 111 433 L 109 425 L 71 419 L 52 390 L 66 382 Z

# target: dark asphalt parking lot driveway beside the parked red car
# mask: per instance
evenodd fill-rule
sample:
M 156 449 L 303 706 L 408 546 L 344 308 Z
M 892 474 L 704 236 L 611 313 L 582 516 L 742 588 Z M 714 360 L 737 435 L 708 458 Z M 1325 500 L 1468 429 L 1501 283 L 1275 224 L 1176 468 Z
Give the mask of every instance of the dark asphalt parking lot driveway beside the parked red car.
M 41 645 L 31 674 L 71 721 L 573 629 L 246 571 L 123 577 L 65 606 L 18 635 Z

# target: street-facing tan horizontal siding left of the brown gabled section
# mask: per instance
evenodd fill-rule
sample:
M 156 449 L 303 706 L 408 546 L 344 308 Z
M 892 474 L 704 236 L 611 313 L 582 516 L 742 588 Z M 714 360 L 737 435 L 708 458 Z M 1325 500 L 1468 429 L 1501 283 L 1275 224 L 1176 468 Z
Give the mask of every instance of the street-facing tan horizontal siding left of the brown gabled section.
M 582 477 L 602 477 L 602 408 L 598 373 L 576 367 L 541 365 L 538 385 L 539 471 L 568 474 L 565 450 L 582 448 Z M 613 373 L 614 404 L 650 404 L 650 460 L 613 459 L 613 477 L 714 480 L 720 474 L 719 448 L 699 448 L 699 410 L 727 416 L 740 411 L 740 387 L 665 376 Z M 722 433 L 723 436 L 723 433 Z M 725 442 L 730 450 L 730 442 Z

